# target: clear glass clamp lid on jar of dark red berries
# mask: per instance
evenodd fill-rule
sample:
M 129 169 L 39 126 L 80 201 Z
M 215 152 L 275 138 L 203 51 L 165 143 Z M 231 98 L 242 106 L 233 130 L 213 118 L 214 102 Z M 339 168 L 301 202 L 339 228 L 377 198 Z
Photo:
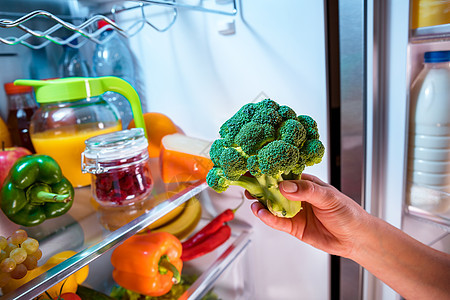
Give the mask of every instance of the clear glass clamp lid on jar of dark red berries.
M 82 153 L 82 169 L 89 173 L 98 173 L 101 163 L 132 158 L 147 150 L 148 147 L 142 128 L 100 134 L 87 139 L 85 144 L 86 149 Z

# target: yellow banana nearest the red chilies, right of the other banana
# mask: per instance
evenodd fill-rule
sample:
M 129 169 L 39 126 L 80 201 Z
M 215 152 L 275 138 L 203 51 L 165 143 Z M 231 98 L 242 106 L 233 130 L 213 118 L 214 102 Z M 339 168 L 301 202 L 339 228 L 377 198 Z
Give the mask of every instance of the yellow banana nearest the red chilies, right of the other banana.
M 186 207 L 176 219 L 172 220 L 170 223 L 153 229 L 152 232 L 169 232 L 178 239 L 182 240 L 194 231 L 200 221 L 200 217 L 202 216 L 202 206 L 195 197 L 192 197 L 185 203 Z

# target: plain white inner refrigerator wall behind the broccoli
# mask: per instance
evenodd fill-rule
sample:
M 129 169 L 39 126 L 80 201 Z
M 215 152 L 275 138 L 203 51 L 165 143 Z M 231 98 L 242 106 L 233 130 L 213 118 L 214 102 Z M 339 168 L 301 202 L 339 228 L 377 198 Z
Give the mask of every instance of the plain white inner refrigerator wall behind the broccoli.
M 119 22 L 139 16 L 126 12 Z M 233 20 L 235 34 L 218 32 L 218 24 Z M 168 115 L 186 134 L 214 140 L 243 104 L 270 97 L 311 115 L 330 147 L 321 1 L 242 1 L 234 18 L 180 10 L 169 31 L 146 26 L 129 43 L 147 109 Z M 307 172 L 327 181 L 328 158 Z M 227 193 L 213 195 L 222 209 L 236 203 L 227 201 Z M 268 228 L 253 216 L 250 202 L 237 218 L 253 226 L 251 299 L 327 299 L 328 254 Z

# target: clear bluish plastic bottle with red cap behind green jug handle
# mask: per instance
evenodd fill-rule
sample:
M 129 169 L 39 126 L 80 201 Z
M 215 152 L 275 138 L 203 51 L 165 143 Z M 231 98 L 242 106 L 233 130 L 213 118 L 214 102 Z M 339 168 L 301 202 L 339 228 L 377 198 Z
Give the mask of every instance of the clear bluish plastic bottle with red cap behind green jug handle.
M 107 25 L 100 20 L 98 27 Z M 132 86 L 136 86 L 134 77 L 134 64 L 131 52 L 120 36 L 112 29 L 107 29 L 100 35 L 100 40 L 107 40 L 98 44 L 94 51 L 93 71 L 96 76 L 117 76 L 126 80 Z M 103 98 L 114 105 L 122 119 L 122 127 L 125 129 L 133 119 L 133 113 L 128 100 L 114 92 L 106 92 Z

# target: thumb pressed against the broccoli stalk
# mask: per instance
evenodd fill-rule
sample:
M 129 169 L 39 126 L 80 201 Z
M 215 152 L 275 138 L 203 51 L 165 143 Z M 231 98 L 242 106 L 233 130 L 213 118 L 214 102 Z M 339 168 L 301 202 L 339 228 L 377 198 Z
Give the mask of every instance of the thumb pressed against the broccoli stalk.
M 329 186 L 319 185 L 309 180 L 284 180 L 279 188 L 283 196 L 292 201 L 305 201 L 318 208 L 329 206 L 333 197 Z

